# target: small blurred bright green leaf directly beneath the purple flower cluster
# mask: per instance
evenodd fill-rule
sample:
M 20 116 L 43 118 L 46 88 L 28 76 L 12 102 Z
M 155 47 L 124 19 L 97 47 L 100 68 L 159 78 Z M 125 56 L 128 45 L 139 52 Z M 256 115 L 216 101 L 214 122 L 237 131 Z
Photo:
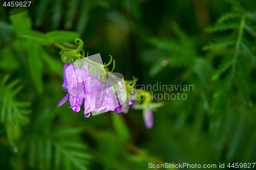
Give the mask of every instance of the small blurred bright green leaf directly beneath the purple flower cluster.
M 127 128 L 121 114 L 112 112 L 112 123 L 120 139 L 127 140 L 130 138 L 131 135 L 129 129 Z

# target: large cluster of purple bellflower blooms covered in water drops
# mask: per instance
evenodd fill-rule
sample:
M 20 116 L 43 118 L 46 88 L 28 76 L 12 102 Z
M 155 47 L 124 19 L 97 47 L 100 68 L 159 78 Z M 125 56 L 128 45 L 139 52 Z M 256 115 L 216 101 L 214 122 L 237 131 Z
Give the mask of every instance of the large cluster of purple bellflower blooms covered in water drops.
M 84 66 L 79 68 L 74 66 L 74 63 L 64 65 L 63 75 L 66 79 L 64 79 L 62 87 L 68 91 L 68 94 L 59 102 L 58 106 L 69 99 L 70 108 L 78 112 L 84 99 L 84 116 L 86 117 L 89 117 L 92 111 L 109 111 L 118 107 L 113 88 L 106 88 L 106 82 L 101 82 L 98 74 L 90 75 L 86 61 L 84 61 Z

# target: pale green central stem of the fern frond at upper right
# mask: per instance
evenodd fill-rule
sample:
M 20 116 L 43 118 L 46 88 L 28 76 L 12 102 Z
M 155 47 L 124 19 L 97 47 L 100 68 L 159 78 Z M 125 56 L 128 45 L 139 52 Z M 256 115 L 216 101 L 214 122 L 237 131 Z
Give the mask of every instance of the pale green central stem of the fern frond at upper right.
M 241 22 L 240 22 L 236 47 L 234 48 L 234 56 L 233 56 L 233 61 L 232 61 L 232 73 L 231 73 L 230 81 L 234 78 L 234 72 L 236 71 L 237 57 L 238 57 L 238 53 L 239 53 L 240 43 L 241 43 L 241 40 L 242 40 L 242 37 L 243 37 L 245 19 L 246 19 L 246 13 L 243 13 L 242 18 L 241 18 Z

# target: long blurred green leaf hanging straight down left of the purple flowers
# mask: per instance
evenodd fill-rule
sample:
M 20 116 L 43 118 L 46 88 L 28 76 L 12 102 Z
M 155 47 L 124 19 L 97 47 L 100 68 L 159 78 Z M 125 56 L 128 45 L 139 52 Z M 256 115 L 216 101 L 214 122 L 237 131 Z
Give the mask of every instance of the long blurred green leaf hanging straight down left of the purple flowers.
M 39 92 L 42 92 L 42 47 L 38 42 L 30 40 L 28 61 L 32 79 Z

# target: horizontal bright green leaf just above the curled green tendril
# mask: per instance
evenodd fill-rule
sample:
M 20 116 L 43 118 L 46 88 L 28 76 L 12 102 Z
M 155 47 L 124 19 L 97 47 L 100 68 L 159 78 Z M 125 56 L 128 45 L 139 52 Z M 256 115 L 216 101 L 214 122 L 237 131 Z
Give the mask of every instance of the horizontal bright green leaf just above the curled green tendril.
M 74 41 L 80 37 L 80 34 L 72 31 L 50 31 L 46 34 L 52 41 L 58 43 L 64 43 L 68 41 Z

